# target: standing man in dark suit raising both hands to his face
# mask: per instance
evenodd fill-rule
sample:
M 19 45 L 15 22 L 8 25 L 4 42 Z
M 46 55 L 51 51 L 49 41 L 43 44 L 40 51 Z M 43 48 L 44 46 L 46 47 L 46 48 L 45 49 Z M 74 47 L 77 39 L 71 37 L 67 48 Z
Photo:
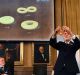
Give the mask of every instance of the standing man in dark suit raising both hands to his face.
M 50 45 L 59 51 L 59 55 L 54 66 L 54 75 L 76 75 L 79 72 L 75 58 L 76 51 L 80 48 L 80 40 L 73 36 L 71 30 L 64 26 L 60 34 L 61 27 L 57 27 L 53 36 L 50 38 Z M 57 42 L 57 35 L 64 38 Z

